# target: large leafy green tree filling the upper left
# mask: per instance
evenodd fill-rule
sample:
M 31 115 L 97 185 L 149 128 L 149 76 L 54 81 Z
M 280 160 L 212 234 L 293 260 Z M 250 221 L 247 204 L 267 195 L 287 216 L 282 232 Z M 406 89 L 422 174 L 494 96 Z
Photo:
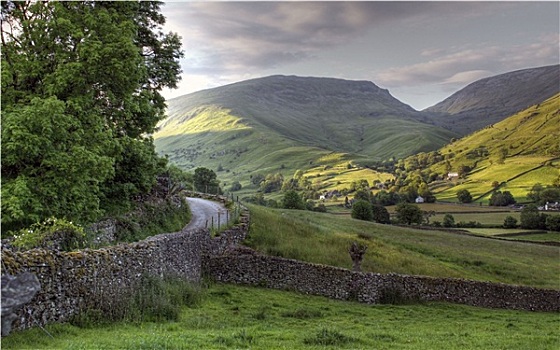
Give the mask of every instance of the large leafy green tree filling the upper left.
M 94 220 L 155 183 L 147 136 L 176 87 L 160 3 L 1 3 L 2 224 Z

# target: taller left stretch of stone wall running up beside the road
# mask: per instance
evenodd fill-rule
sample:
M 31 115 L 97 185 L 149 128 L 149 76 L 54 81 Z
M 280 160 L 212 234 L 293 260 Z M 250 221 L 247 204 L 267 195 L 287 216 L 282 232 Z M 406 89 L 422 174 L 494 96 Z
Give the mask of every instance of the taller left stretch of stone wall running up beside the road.
M 225 198 L 213 198 L 225 201 Z M 202 259 L 220 255 L 243 241 L 249 212 L 242 208 L 239 224 L 220 236 L 189 230 L 161 234 L 144 241 L 75 252 L 2 247 L 2 273 L 31 272 L 41 290 L 17 310 L 13 329 L 22 330 L 69 320 L 88 307 L 110 308 L 134 290 L 143 275 L 175 276 L 197 283 Z

